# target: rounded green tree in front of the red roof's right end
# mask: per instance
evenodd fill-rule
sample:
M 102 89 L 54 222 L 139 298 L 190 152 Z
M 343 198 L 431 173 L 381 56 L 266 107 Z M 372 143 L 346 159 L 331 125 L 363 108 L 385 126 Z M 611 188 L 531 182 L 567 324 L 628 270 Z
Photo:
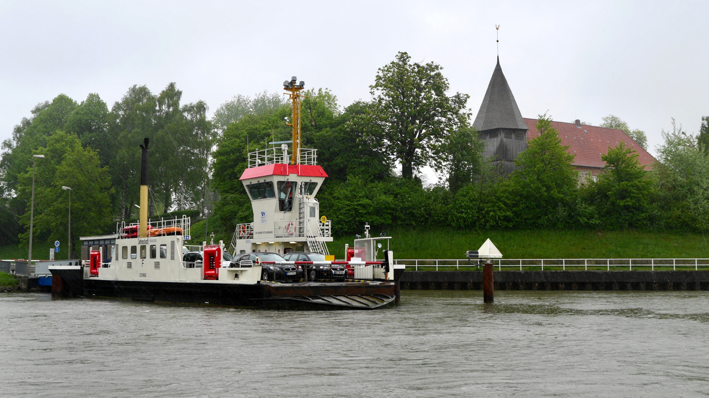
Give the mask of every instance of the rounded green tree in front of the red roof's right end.
M 637 160 L 638 154 L 621 141 L 601 159 L 603 173 L 596 183 L 596 206 L 601 222 L 610 229 L 649 224 L 655 195 L 652 180 Z

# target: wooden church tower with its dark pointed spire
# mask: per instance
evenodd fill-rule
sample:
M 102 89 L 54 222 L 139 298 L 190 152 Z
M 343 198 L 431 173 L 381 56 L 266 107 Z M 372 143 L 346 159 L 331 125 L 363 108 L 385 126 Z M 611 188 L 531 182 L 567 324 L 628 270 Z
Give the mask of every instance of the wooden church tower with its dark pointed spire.
M 512 173 L 517 154 L 527 149 L 528 129 L 502 73 L 499 56 L 473 127 L 485 141 L 485 158 L 493 165 L 501 164 L 502 174 Z

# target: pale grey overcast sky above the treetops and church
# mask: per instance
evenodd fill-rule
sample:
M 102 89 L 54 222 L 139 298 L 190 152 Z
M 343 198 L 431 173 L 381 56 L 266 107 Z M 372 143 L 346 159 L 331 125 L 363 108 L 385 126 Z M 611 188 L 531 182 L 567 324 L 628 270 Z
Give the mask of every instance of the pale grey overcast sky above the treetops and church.
M 290 76 L 348 105 L 398 51 L 437 62 L 477 113 L 500 61 L 522 115 L 618 115 L 661 143 L 709 115 L 707 1 L 2 1 L 0 140 L 41 101 L 171 81 L 211 110 Z

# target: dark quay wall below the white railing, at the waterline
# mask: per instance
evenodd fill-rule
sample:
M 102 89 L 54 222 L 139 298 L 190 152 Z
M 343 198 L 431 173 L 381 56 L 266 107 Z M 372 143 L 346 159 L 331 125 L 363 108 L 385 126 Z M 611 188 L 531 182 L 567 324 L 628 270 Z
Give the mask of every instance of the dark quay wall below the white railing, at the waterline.
M 496 290 L 709 290 L 709 271 L 495 271 Z M 406 271 L 402 289 L 481 290 L 481 271 Z

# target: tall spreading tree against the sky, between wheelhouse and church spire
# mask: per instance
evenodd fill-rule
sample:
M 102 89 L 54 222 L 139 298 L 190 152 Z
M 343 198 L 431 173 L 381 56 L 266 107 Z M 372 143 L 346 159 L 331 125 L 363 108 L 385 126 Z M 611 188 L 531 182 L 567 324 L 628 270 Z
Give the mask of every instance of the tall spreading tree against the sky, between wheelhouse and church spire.
M 421 166 L 435 163 L 450 132 L 467 123 L 467 94 L 447 96 L 448 80 L 433 62 L 411 62 L 399 52 L 379 68 L 369 86 L 374 98 L 363 118 L 352 123 L 367 130 L 385 154 L 401 163 L 403 178 L 413 178 Z

